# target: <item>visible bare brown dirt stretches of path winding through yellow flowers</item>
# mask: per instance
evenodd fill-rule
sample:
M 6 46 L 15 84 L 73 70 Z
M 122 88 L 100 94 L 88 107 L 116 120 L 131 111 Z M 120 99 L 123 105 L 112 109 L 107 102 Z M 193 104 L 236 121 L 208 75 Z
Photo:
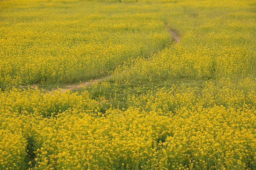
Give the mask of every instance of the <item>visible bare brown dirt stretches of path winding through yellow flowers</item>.
M 166 30 L 172 35 L 172 38 L 174 39 L 175 43 L 178 43 L 180 41 L 180 37 L 178 36 L 177 33 L 175 33 L 175 31 L 173 31 L 169 28 L 166 28 Z M 72 84 L 72 85 L 67 85 L 67 86 L 64 86 L 63 88 L 61 88 L 61 92 L 66 92 L 68 90 L 70 90 L 70 91 L 78 90 L 81 87 L 86 87 L 86 86 L 92 85 L 93 83 L 105 80 L 107 78 L 111 78 L 111 76 L 105 76 L 105 77 L 98 78 L 95 80 L 90 80 L 89 82 L 80 82 L 80 83 L 76 83 L 76 84 Z M 31 87 L 36 88 L 36 85 L 32 85 Z M 57 90 L 57 89 L 54 89 L 54 90 Z M 49 92 L 52 92 L 54 90 L 51 90 Z

